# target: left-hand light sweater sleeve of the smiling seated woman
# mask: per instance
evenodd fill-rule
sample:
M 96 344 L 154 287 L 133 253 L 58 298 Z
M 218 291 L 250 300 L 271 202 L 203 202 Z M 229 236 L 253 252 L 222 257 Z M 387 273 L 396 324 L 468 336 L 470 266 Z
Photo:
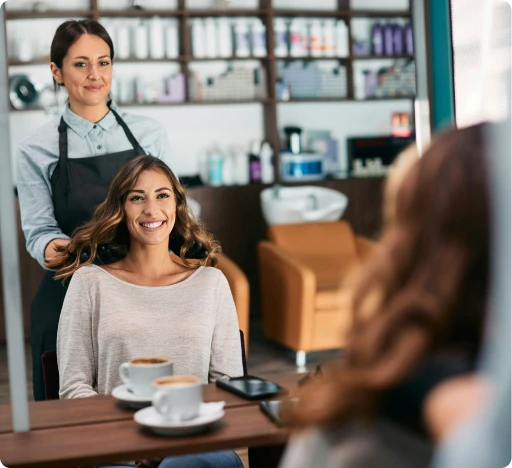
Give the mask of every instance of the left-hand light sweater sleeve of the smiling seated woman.
M 93 344 L 93 309 L 80 273 L 69 284 L 57 331 L 59 396 L 61 399 L 95 396 L 96 360 Z

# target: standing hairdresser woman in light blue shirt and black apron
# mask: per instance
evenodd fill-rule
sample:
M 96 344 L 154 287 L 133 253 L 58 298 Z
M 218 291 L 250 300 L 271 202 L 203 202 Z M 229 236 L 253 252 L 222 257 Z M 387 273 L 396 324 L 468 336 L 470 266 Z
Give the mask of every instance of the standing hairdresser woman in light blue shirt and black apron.
M 55 87 L 69 96 L 58 121 L 22 141 L 17 188 L 27 250 L 43 268 L 56 248 L 89 221 L 105 200 L 118 169 L 142 154 L 170 162 L 163 126 L 152 119 L 119 113 L 110 100 L 114 46 L 92 20 L 66 21 L 51 45 Z M 55 350 L 66 287 L 47 270 L 31 307 L 31 345 L 35 400 L 44 400 L 41 356 Z

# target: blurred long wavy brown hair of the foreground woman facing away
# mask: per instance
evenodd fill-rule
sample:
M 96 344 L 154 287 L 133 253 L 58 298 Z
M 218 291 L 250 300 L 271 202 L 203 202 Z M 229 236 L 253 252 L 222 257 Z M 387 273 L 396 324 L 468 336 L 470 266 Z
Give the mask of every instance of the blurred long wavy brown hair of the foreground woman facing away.
M 341 365 L 300 392 L 300 411 L 289 408 L 298 426 L 373 417 L 432 353 L 476 359 L 491 250 L 483 127 L 439 136 L 406 166 L 388 184 L 386 226 L 355 284 Z

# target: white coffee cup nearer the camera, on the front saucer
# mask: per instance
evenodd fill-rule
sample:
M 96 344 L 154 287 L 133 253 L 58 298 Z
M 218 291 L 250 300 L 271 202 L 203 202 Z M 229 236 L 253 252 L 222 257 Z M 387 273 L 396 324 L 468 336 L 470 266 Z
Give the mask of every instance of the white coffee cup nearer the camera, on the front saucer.
M 169 422 L 188 421 L 199 414 L 203 402 L 201 379 L 194 375 L 160 377 L 153 382 L 156 390 L 153 406 Z

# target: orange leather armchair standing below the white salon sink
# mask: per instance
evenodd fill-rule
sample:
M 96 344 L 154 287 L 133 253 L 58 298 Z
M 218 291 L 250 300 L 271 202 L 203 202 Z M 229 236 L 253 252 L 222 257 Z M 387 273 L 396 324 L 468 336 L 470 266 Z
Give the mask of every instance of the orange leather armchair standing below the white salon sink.
M 258 244 L 265 335 L 296 352 L 340 348 L 351 326 L 346 279 L 373 242 L 345 221 L 275 225 Z

